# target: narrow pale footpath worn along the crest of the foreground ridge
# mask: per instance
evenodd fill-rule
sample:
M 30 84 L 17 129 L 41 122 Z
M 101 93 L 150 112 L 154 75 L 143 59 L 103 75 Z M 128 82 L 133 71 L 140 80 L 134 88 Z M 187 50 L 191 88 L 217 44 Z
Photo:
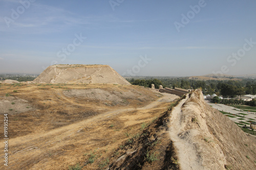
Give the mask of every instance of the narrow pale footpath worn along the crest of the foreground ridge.
M 184 123 L 181 122 L 181 107 L 187 99 L 188 95 L 186 95 L 186 99 L 183 99 L 179 105 L 172 110 L 170 115 L 169 135 L 178 150 L 179 163 L 182 170 L 204 169 L 197 157 L 194 145 L 179 137 L 179 134 L 184 131 L 183 128 L 185 126 Z

